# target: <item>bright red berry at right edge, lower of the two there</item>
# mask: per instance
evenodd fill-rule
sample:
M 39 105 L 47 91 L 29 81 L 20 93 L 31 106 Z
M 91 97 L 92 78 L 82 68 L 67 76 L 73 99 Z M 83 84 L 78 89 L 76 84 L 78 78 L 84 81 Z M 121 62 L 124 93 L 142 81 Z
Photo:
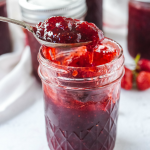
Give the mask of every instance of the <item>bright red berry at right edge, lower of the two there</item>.
M 137 88 L 141 91 L 147 90 L 150 88 L 150 73 L 142 71 L 138 74 L 136 78 Z

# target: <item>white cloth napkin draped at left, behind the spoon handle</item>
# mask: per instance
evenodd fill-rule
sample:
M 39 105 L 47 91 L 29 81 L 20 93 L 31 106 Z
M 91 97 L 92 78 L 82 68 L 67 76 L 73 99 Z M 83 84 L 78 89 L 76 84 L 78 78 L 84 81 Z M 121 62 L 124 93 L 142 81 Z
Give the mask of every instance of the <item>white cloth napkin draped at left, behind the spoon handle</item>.
M 7 0 L 8 17 L 21 20 L 18 0 Z M 12 118 L 41 98 L 41 85 L 32 75 L 30 48 L 24 33 L 9 24 L 13 52 L 0 56 L 0 122 Z

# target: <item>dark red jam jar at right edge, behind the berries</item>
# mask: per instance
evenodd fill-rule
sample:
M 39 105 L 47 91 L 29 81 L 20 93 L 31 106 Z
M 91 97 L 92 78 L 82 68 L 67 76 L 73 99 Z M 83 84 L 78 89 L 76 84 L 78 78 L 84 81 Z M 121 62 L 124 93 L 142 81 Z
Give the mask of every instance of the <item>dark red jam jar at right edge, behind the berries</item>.
M 128 51 L 150 60 L 150 0 L 129 1 Z

